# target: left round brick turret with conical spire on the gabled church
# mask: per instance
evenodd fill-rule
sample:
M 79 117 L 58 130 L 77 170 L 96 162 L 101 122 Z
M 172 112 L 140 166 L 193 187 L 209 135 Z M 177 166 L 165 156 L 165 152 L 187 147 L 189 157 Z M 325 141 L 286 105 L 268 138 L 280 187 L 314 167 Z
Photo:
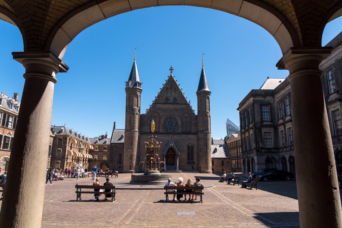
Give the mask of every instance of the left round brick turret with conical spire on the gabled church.
M 141 82 L 136 67 L 135 52 L 134 62 L 128 81 L 126 82 L 126 120 L 125 120 L 125 143 L 123 152 L 122 169 L 124 171 L 136 170 L 138 161 L 137 148 L 139 141 L 139 117 Z M 120 165 L 120 164 L 119 164 Z

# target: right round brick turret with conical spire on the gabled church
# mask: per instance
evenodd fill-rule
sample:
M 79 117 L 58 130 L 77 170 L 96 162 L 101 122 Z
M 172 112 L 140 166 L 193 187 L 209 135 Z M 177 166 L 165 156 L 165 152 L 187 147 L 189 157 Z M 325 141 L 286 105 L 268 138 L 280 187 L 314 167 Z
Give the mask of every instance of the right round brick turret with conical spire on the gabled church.
M 197 142 L 199 170 L 202 173 L 212 173 L 211 169 L 211 132 L 210 132 L 210 90 L 204 71 L 202 57 L 202 71 L 199 78 L 197 95 Z

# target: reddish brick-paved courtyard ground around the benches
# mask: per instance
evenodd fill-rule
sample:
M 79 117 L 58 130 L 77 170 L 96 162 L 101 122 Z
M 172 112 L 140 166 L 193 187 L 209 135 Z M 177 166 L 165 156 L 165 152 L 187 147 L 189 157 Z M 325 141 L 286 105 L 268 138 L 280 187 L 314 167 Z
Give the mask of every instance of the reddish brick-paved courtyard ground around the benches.
M 45 186 L 41 227 L 89 227 L 94 224 L 105 228 L 299 227 L 297 190 L 293 180 L 258 182 L 258 190 L 249 190 L 241 189 L 241 185 L 220 183 L 215 174 L 168 174 L 172 174 L 174 180 L 181 176 L 184 181 L 199 176 L 203 184 L 214 187 L 204 189 L 203 203 L 198 200 L 165 203 L 164 190 L 141 190 L 139 185 L 136 189 L 118 189 L 114 202 L 94 201 L 90 194 L 83 194 L 83 200 L 76 202 L 75 184 L 91 185 L 91 177 L 79 181 L 65 178 Z M 119 174 L 110 181 L 116 186 L 127 184 L 130 174 Z M 104 182 L 105 177 L 100 177 L 100 183 Z M 180 212 L 195 215 L 177 215 Z

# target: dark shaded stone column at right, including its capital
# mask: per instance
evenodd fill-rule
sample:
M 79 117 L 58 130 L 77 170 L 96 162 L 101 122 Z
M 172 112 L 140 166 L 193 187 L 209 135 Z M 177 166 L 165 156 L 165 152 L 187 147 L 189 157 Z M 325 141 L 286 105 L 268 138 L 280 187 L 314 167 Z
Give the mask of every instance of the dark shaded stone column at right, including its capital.
M 331 48 L 291 48 L 277 63 L 288 69 L 301 228 L 342 227 L 329 122 L 318 65 Z M 319 184 L 317 182 L 319 181 Z

